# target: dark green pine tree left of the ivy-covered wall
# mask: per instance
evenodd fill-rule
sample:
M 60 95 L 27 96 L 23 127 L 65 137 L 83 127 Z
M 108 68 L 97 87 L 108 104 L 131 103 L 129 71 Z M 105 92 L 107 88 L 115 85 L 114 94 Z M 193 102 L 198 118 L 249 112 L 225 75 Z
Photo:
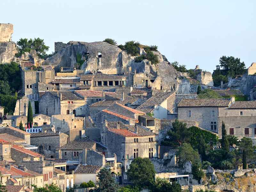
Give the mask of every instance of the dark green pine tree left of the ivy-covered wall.
M 182 123 L 178 119 L 175 119 L 172 123 L 172 129 L 167 132 L 167 136 L 168 137 L 166 137 L 161 144 L 177 148 L 180 147 L 182 143 L 189 142 L 191 132 L 188 131 L 186 123 Z

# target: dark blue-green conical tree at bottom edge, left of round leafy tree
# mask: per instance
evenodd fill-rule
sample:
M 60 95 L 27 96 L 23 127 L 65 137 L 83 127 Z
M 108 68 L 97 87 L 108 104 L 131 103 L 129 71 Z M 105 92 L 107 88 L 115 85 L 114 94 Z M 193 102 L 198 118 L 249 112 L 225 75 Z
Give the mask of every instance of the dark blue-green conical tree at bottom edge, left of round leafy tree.
M 102 168 L 97 174 L 96 192 L 117 192 L 118 185 L 107 168 Z

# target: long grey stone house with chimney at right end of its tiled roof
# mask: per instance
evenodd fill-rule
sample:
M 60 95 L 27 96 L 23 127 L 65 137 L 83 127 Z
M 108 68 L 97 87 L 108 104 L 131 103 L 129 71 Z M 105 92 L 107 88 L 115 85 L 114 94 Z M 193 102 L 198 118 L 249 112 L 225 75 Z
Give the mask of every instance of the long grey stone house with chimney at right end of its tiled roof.
M 205 130 L 218 132 L 218 116 L 235 98 L 230 99 L 182 99 L 178 104 L 178 119 L 197 121 Z

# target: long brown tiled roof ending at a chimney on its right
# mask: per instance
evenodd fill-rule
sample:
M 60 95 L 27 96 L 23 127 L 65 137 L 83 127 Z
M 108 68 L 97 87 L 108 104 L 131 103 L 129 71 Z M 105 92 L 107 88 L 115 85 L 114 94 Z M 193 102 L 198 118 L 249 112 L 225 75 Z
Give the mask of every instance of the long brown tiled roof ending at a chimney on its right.
M 178 107 L 228 107 L 230 99 L 182 99 Z

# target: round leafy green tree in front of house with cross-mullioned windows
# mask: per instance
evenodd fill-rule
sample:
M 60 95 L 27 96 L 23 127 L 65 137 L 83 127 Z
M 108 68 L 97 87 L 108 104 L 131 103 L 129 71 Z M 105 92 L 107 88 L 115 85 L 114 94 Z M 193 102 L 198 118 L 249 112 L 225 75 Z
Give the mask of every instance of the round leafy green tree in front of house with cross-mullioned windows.
M 152 162 L 140 157 L 133 159 L 127 171 L 128 179 L 137 186 L 151 186 L 154 183 L 155 169 Z

